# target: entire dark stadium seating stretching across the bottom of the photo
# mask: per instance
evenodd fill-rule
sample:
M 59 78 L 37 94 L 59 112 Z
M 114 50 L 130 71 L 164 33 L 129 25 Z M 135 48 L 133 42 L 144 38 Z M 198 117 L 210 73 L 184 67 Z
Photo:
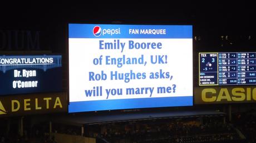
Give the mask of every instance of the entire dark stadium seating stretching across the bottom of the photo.
M 152 142 L 255 142 L 256 115 L 254 111 L 233 115 L 232 122 L 224 122 L 223 116 L 205 118 L 162 118 L 120 121 L 85 125 L 83 136 L 96 142 L 152 143 Z M 1 126 L 4 129 L 4 126 Z M 12 127 L 11 127 L 12 128 Z M 15 130 L 15 129 L 13 129 Z M 33 125 L 24 132 L 0 131 L 0 143 L 45 143 L 53 142 L 47 122 Z M 63 135 L 81 136 L 81 127 L 54 123 L 52 131 Z M 60 143 L 60 142 L 58 142 Z

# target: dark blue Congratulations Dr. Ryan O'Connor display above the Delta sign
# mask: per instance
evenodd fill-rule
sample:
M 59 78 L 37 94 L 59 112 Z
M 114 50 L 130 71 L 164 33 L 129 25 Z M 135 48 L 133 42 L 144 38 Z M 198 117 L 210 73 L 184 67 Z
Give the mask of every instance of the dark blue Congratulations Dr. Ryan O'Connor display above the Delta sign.
M 61 55 L 0 56 L 0 95 L 62 91 Z

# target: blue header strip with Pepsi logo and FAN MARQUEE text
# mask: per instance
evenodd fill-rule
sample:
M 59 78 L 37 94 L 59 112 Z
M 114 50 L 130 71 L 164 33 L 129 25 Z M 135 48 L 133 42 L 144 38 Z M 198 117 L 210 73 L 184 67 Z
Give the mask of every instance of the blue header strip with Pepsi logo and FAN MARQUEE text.
M 68 24 L 68 38 L 192 38 L 192 26 Z

